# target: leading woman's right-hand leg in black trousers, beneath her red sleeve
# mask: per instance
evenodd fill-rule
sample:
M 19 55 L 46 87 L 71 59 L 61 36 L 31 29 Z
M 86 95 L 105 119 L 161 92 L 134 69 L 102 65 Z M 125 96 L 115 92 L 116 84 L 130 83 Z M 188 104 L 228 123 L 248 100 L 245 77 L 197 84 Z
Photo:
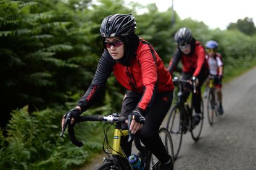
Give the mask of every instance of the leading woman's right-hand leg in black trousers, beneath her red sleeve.
M 159 92 L 151 110 L 147 113 L 144 126 L 139 131 L 142 143 L 151 150 L 161 163 L 167 163 L 170 160 L 159 137 L 159 127 L 170 108 L 172 98 L 173 92 Z

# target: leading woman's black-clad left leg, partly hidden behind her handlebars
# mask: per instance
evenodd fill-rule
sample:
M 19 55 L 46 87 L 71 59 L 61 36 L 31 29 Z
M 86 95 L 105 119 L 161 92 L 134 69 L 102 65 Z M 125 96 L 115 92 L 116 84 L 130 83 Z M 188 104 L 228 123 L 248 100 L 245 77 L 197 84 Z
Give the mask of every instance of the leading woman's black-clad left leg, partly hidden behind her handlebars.
M 128 116 L 136 108 L 139 100 L 141 99 L 141 95 L 136 92 L 127 91 L 122 103 L 121 115 Z M 122 124 L 122 129 L 128 129 L 128 125 L 126 123 Z M 125 152 L 126 156 L 131 155 L 131 142 L 128 142 L 128 136 L 122 137 L 121 139 L 121 147 Z

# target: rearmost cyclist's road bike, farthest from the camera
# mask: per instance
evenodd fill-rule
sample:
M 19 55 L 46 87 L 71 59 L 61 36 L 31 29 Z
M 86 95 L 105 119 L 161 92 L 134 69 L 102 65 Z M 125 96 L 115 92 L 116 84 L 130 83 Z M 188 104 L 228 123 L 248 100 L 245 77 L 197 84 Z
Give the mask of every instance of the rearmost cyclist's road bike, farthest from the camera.
M 209 76 L 209 85 L 205 90 L 205 98 L 207 98 L 207 117 L 210 125 L 213 125 L 215 116 L 219 115 L 217 92 L 213 84 L 216 78 L 218 78 L 218 76 Z

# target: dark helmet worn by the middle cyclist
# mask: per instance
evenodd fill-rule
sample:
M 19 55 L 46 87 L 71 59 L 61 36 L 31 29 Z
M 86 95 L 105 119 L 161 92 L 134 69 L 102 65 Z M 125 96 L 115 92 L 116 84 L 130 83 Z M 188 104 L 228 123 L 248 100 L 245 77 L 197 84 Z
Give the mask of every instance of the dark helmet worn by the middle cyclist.
M 178 30 L 175 33 L 175 37 L 174 37 L 178 46 L 186 46 L 187 44 L 190 44 L 192 38 L 193 36 L 192 36 L 191 30 L 189 30 L 186 27 L 180 28 L 180 30 Z

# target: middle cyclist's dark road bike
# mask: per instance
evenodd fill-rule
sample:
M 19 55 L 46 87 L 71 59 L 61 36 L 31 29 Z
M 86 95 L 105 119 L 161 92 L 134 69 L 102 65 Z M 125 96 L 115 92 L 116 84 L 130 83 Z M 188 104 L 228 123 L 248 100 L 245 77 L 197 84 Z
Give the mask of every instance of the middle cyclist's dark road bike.
M 167 121 L 167 129 L 171 133 L 171 137 L 173 139 L 173 150 L 174 150 L 174 159 L 178 158 L 178 154 L 180 152 L 181 143 L 183 139 L 183 134 L 190 131 L 192 139 L 197 141 L 202 132 L 202 127 L 204 123 L 204 102 L 201 99 L 200 106 L 200 123 L 197 126 L 194 126 L 192 123 L 192 118 L 196 115 L 194 111 L 193 105 L 193 97 L 191 97 L 191 104 L 187 103 L 182 99 L 182 95 L 184 92 L 183 84 L 190 83 L 191 81 L 186 79 L 179 79 L 177 77 L 173 78 L 173 83 L 178 87 L 177 101 L 168 111 L 168 121 Z M 192 95 L 196 93 L 196 79 L 192 80 Z M 187 89 L 187 91 L 191 91 Z

